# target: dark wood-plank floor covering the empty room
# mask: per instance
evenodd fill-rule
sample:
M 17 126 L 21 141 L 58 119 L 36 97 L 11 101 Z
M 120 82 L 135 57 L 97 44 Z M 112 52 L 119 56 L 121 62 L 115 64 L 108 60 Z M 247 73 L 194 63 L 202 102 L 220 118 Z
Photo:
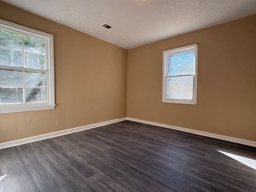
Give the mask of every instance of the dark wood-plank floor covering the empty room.
M 0 150 L 0 192 L 256 192 L 256 148 L 123 121 Z

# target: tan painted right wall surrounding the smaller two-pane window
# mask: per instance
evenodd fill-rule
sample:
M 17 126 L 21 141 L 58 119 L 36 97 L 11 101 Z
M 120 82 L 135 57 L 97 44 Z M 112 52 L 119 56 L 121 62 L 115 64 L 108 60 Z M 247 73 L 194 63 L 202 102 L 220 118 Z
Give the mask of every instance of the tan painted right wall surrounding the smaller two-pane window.
M 197 105 L 162 103 L 162 50 L 199 43 Z M 127 116 L 256 141 L 256 14 L 128 50 Z

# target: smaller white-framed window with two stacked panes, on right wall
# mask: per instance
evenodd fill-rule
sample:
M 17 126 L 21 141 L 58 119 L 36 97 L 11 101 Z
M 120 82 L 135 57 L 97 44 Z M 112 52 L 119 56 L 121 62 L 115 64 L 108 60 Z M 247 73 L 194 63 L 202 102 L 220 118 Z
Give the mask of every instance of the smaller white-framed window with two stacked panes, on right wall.
M 162 102 L 196 104 L 198 45 L 163 51 Z

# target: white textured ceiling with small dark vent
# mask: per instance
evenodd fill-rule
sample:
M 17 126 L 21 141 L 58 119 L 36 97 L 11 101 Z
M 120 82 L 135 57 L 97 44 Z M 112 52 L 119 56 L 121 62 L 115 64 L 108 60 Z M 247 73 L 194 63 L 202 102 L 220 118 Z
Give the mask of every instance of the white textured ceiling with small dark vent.
M 2 1 L 126 49 L 256 13 L 256 0 Z

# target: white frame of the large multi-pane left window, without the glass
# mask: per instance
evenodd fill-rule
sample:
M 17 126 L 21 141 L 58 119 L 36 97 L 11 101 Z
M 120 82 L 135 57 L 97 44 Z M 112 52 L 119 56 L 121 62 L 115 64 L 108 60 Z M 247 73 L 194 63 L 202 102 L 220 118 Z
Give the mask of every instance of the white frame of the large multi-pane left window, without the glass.
M 34 103 L 15 103 L 15 104 L 0 104 L 0 114 L 25 112 L 36 110 L 49 110 L 55 108 L 55 95 L 54 95 L 54 45 L 53 35 L 41 32 L 32 28 L 14 24 L 0 19 L 0 28 L 3 30 L 10 30 L 12 32 L 29 35 L 35 38 L 40 38 L 46 41 L 46 72 L 47 72 L 47 102 L 34 102 Z M 2 68 L 24 69 L 31 70 L 30 68 L 19 68 L 14 66 L 1 65 Z M 34 69 L 32 69 L 34 70 Z M 40 71 L 40 70 L 38 70 Z

